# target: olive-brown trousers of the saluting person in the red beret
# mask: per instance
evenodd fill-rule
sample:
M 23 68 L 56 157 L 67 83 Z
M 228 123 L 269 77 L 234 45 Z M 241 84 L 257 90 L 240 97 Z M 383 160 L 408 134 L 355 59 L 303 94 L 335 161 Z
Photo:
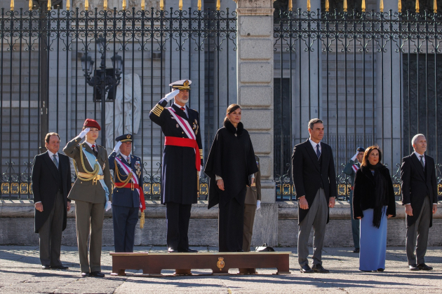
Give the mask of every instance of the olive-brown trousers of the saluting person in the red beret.
M 100 259 L 104 218 L 104 203 L 75 201 L 76 240 L 79 246 L 81 272 L 101 272 Z M 90 237 L 90 263 L 88 261 L 88 237 Z

